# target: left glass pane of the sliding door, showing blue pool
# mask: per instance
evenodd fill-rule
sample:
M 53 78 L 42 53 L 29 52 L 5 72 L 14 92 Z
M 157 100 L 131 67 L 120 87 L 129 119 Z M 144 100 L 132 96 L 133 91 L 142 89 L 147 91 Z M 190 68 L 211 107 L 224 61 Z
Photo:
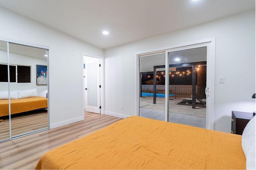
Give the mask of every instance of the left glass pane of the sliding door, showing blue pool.
M 165 120 L 165 54 L 139 58 L 140 117 Z

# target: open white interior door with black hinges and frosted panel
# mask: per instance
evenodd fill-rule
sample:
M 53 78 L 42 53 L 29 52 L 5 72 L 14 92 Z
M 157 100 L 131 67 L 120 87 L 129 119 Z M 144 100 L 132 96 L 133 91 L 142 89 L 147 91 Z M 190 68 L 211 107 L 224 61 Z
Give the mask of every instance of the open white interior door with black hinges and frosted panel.
M 85 110 L 100 113 L 100 59 L 84 57 Z

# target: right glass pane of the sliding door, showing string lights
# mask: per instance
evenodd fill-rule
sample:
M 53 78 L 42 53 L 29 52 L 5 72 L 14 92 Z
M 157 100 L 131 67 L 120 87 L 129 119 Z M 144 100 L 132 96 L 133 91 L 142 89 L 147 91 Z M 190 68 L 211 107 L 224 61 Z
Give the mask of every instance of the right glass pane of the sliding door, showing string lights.
M 206 128 L 207 47 L 168 52 L 168 121 Z

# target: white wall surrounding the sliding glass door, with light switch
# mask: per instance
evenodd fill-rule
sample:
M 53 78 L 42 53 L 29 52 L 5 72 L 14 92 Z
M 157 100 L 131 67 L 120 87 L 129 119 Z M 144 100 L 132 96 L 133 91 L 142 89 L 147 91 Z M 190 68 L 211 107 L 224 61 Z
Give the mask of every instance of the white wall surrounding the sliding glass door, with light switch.
M 105 113 L 136 115 L 136 53 L 216 38 L 214 128 L 230 132 L 232 111 L 255 111 L 255 10 L 105 50 Z M 218 77 L 225 83 L 219 84 Z M 124 109 L 121 109 L 123 105 Z

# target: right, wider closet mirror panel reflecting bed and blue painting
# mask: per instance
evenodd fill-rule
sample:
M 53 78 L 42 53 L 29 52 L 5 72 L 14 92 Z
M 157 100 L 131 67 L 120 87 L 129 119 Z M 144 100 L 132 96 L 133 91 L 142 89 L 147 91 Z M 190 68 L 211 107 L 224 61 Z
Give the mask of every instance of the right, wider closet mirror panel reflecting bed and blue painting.
M 48 49 L 9 43 L 11 137 L 48 128 Z

